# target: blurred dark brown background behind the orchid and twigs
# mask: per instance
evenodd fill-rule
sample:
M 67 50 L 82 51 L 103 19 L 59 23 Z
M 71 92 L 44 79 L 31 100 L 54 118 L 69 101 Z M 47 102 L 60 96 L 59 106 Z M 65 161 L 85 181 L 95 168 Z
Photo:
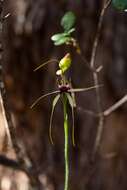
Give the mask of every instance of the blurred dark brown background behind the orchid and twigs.
M 8 104 L 18 139 L 39 169 L 44 190 L 63 190 L 64 187 L 63 113 L 59 104 L 53 118 L 55 146 L 52 146 L 48 129 L 53 97 L 43 99 L 32 110 L 30 105 L 42 94 L 57 89 L 57 64 L 49 64 L 37 72 L 33 70 L 43 62 L 53 58 L 59 60 L 71 51 L 73 87 L 92 86 L 92 73 L 82 59 L 69 47 L 54 46 L 50 38 L 62 31 L 60 20 L 64 13 L 73 11 L 77 17 L 74 36 L 89 61 L 102 5 L 102 0 L 5 0 L 4 3 L 4 12 L 11 14 L 4 23 L 3 38 Z M 99 75 L 100 83 L 104 84 L 101 88 L 103 110 L 127 92 L 126 31 L 127 13 L 110 6 L 105 14 L 96 56 L 96 65 L 103 65 Z M 70 189 L 126 190 L 127 105 L 105 119 L 99 155 L 91 164 L 98 119 L 87 110 L 97 111 L 95 91 L 77 94 L 76 102 L 76 147 L 70 140 L 69 148 Z M 1 168 L 0 178 L 1 190 L 29 189 L 28 179 L 22 172 Z

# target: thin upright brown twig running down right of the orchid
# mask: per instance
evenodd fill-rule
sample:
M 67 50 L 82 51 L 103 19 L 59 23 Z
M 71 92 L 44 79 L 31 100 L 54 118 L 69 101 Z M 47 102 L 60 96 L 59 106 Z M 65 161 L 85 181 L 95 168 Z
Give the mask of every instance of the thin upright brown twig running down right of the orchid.
M 107 10 L 108 6 L 110 5 L 110 3 L 111 3 L 111 0 L 104 2 L 103 8 L 100 13 L 99 22 L 98 22 L 98 26 L 97 26 L 97 32 L 96 32 L 94 43 L 93 43 L 90 67 L 92 70 L 95 70 L 95 71 L 96 71 L 96 66 L 95 66 L 96 54 L 97 54 L 97 48 L 98 48 L 99 37 L 101 34 L 102 24 L 103 24 L 103 20 L 104 20 L 104 14 L 105 14 L 105 11 Z M 100 89 L 98 88 L 98 85 L 99 85 L 98 72 L 93 72 L 93 80 L 94 80 L 94 86 L 96 86 L 97 110 L 98 110 L 98 113 L 102 113 L 101 93 L 100 93 Z M 97 136 L 96 136 L 95 145 L 94 145 L 94 155 L 100 145 L 100 140 L 101 140 L 102 131 L 103 131 L 103 125 L 104 125 L 104 116 L 102 114 L 99 116 Z

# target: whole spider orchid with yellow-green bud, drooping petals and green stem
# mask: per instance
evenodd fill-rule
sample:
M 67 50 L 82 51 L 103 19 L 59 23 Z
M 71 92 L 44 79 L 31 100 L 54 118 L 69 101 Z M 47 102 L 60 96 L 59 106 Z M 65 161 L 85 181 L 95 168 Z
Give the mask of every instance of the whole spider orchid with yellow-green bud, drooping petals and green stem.
M 55 62 L 58 62 L 57 60 L 54 60 Z M 44 65 L 50 63 L 51 61 L 48 61 L 44 63 L 43 65 L 40 65 L 38 68 L 35 69 L 38 70 Z M 33 108 L 40 100 L 47 96 L 51 96 L 54 94 L 57 94 L 55 98 L 53 99 L 52 102 L 52 110 L 51 110 L 51 115 L 50 115 L 50 126 L 49 126 L 49 137 L 50 141 L 53 144 L 53 139 L 52 139 L 52 120 L 53 120 L 53 114 L 54 114 L 54 109 L 56 107 L 56 104 L 59 99 L 62 99 L 63 103 L 63 113 L 64 113 L 64 159 L 65 159 L 65 183 L 64 183 L 64 190 L 68 190 L 69 186 L 69 143 L 68 143 L 68 110 L 67 107 L 70 105 L 71 107 L 71 113 L 72 113 L 72 143 L 73 146 L 75 146 L 75 139 L 74 139 L 74 108 L 76 107 L 76 102 L 75 102 L 75 93 L 77 92 L 84 92 L 88 90 L 92 90 L 94 88 L 97 88 L 97 86 L 92 86 L 88 88 L 72 88 L 71 83 L 68 82 L 66 79 L 65 73 L 66 71 L 70 68 L 71 66 L 71 56 L 69 53 L 67 53 L 59 62 L 59 70 L 56 71 L 56 76 L 59 77 L 58 80 L 58 90 L 49 92 L 47 94 L 44 94 L 40 96 L 32 105 L 31 108 Z

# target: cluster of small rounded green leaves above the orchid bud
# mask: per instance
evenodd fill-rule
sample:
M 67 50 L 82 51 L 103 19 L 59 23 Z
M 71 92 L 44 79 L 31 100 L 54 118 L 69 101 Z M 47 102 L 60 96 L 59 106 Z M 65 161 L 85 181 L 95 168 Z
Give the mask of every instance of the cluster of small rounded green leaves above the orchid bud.
M 59 46 L 62 44 L 70 44 L 73 41 L 71 34 L 75 31 L 73 27 L 76 17 L 73 12 L 67 12 L 61 19 L 61 26 L 63 28 L 62 33 L 57 33 L 51 37 L 54 45 Z

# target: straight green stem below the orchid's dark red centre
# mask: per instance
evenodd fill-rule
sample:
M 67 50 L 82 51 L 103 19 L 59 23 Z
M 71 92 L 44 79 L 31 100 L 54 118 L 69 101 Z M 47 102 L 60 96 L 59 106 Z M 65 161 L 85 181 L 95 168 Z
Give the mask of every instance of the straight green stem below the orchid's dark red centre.
M 64 157 L 65 157 L 65 183 L 64 190 L 68 190 L 69 182 L 69 155 L 68 155 L 68 113 L 67 113 L 67 97 L 63 94 L 63 111 L 64 111 Z

